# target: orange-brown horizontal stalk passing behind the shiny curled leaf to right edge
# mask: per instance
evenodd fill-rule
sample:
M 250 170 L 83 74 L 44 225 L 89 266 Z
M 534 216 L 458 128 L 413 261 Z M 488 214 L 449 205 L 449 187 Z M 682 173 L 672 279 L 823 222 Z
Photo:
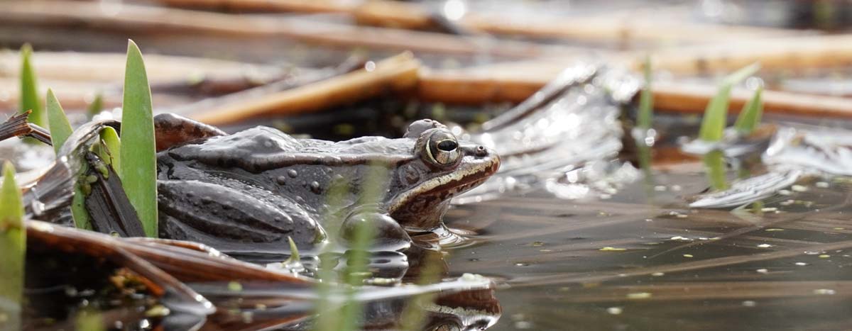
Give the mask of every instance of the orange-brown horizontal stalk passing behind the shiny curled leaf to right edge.
M 474 75 L 468 75 L 465 71 L 423 71 L 418 96 L 423 100 L 467 105 L 495 101 L 521 102 L 558 73 L 519 73 L 519 78 L 512 79 L 506 71 L 491 71 L 490 75 L 484 72 L 487 71 L 476 71 Z M 654 83 L 654 106 L 660 111 L 702 113 L 716 90 L 713 86 Z M 750 97 L 751 93 L 748 91 L 734 90 L 730 100 L 731 110 L 739 111 Z M 847 98 L 764 91 L 763 103 L 764 111 L 768 113 L 852 117 L 852 99 Z

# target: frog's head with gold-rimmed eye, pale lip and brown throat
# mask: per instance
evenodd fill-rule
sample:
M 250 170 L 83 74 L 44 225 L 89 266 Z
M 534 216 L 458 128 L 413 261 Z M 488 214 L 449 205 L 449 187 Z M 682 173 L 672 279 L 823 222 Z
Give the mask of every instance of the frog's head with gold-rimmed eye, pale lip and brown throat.
M 414 157 L 395 172 L 388 211 L 411 231 L 435 229 L 452 197 L 482 184 L 500 167 L 497 153 L 459 141 L 432 120 L 412 123 L 405 138 L 414 141 Z

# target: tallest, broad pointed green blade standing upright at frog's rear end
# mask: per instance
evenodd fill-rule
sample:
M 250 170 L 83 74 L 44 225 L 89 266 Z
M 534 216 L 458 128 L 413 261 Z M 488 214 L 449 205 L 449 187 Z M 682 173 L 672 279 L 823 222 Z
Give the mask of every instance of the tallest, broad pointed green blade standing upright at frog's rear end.
M 128 41 L 119 176 L 148 237 L 157 237 L 157 163 L 151 87 L 139 47 Z

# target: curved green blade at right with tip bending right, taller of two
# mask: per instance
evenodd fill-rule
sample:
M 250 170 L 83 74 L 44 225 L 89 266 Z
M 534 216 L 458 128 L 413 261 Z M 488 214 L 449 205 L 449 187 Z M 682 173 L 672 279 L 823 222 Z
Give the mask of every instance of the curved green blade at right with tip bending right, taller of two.
M 701 121 L 699 132 L 701 140 L 719 141 L 722 139 L 725 124 L 728 122 L 728 100 L 731 96 L 731 88 L 746 77 L 754 75 L 758 69 L 760 69 L 760 66 L 757 64 L 746 66 L 722 80 L 717 94 L 713 96 L 704 111 L 704 119 Z

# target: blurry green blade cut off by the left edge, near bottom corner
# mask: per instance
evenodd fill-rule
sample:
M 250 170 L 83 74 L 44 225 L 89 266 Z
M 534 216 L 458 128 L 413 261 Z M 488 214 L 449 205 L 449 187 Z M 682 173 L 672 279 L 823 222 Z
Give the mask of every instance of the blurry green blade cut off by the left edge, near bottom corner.
M 0 303 L 10 308 L 0 311 L 0 329 L 15 330 L 20 329 L 26 231 L 24 203 L 14 182 L 12 163 L 3 164 L 3 188 L 0 190 Z M 18 311 L 14 311 L 13 307 L 17 307 Z M 2 316 L 4 314 L 6 316 Z

